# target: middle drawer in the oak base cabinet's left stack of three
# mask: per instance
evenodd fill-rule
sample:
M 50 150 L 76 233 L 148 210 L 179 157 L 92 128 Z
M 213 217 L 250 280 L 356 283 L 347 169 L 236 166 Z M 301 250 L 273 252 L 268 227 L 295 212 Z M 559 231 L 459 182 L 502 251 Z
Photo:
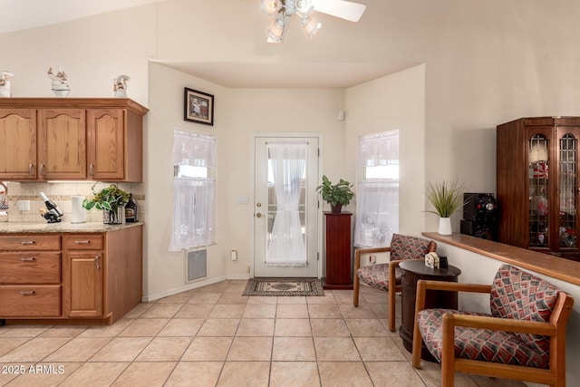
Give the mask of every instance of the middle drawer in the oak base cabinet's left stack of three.
M 58 284 L 60 253 L 0 253 L 0 284 Z

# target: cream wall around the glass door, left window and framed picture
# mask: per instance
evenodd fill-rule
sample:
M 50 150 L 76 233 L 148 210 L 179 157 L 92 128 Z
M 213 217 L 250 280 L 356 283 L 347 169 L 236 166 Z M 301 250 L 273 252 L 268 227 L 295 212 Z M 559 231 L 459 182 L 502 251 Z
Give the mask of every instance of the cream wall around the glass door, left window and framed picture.
M 183 121 L 183 88 L 214 94 L 214 126 Z M 148 299 L 197 287 L 224 278 L 248 278 L 254 267 L 252 230 L 253 144 L 255 133 L 321 134 L 328 154 L 324 172 L 337 175 L 343 164 L 343 110 L 341 90 L 227 89 L 179 73 L 161 64 L 150 64 L 150 113 L 146 135 L 147 213 L 145 289 Z M 186 284 L 183 253 L 169 252 L 172 227 L 173 129 L 215 135 L 218 140 L 216 245 L 208 247 L 208 277 Z M 248 196 L 248 204 L 237 204 Z M 229 251 L 237 249 L 237 261 Z

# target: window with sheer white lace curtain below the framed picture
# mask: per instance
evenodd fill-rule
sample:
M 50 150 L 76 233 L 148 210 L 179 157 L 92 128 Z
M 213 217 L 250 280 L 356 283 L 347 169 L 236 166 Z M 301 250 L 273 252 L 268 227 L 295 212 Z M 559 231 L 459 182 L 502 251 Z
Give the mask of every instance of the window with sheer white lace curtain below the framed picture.
M 216 139 L 173 131 L 173 230 L 169 251 L 214 241 Z

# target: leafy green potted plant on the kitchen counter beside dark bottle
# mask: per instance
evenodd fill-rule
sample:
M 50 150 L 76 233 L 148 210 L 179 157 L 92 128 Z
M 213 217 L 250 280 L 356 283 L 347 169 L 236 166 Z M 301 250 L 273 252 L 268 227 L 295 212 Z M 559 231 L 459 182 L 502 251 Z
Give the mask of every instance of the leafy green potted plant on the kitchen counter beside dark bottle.
M 82 207 L 86 209 L 102 209 L 103 223 L 115 225 L 121 224 L 124 217 L 123 206 L 129 201 L 129 194 L 119 187 L 111 186 L 101 189 L 99 192 L 94 191 L 92 185 L 92 198 L 85 198 L 82 201 Z

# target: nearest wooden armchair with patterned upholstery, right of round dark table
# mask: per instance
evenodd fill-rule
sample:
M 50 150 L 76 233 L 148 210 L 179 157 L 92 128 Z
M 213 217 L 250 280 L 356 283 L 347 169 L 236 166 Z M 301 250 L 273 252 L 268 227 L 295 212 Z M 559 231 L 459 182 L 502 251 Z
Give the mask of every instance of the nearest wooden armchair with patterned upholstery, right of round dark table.
M 489 294 L 490 314 L 424 309 L 427 289 Z M 565 386 L 565 327 L 574 299 L 517 267 L 499 267 L 492 285 L 420 280 L 417 286 L 413 366 L 421 339 L 441 362 L 441 385 L 455 371 Z

